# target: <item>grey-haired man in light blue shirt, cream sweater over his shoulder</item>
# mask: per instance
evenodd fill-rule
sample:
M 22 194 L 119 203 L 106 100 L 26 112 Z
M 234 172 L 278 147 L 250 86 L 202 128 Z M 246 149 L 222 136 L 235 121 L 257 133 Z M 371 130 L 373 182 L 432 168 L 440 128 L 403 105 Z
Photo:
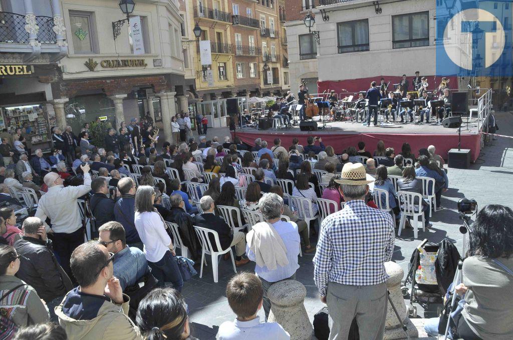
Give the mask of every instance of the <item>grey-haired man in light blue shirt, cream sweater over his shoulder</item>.
M 282 280 L 295 280 L 301 248 L 298 225 L 281 220 L 283 199 L 277 194 L 264 194 L 259 201 L 265 222 L 255 224 L 246 235 L 246 253 L 256 263 L 255 273 L 264 288 L 265 318 L 269 316 L 271 302 L 267 291 Z

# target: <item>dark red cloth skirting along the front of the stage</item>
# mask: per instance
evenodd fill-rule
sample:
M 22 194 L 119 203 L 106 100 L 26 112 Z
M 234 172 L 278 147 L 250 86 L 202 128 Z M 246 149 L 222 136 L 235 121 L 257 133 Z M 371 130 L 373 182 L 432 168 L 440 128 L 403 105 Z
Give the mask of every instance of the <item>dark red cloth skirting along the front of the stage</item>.
M 233 133 L 232 133 L 233 135 Z M 307 145 L 308 136 L 320 136 L 325 146 L 331 145 L 337 154 L 349 146 L 357 147 L 358 142 L 364 141 L 365 150 L 372 153 L 376 150 L 379 140 L 385 142 L 386 147 L 393 147 L 396 154 L 401 152 L 401 146 L 408 142 L 414 154 L 418 155 L 420 148 L 435 145 L 437 154 L 447 159 L 447 153 L 451 148 L 458 148 L 458 135 L 441 134 L 379 134 L 379 133 L 329 133 L 329 132 L 299 132 L 299 133 L 281 133 L 275 131 L 255 131 L 255 132 L 237 132 L 237 136 L 243 142 L 254 145 L 254 140 L 262 138 L 269 143 L 269 148 L 274 145 L 274 138 L 280 137 L 282 145 L 288 148 L 292 144 L 294 137 L 299 138 L 301 145 Z M 461 135 L 461 148 L 470 149 L 471 160 L 475 162 L 481 151 L 481 134 Z M 317 143 L 318 144 L 318 143 Z

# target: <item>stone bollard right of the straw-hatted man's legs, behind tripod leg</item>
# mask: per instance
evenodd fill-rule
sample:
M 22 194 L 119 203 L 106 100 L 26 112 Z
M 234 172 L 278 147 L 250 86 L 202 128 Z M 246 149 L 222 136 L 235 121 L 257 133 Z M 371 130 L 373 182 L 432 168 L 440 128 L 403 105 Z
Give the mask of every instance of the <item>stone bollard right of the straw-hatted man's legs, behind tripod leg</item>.
M 390 299 L 392 300 L 394 306 L 396 306 L 396 309 L 401 316 L 404 325 L 408 328 L 408 334 L 411 337 L 416 337 L 419 335 L 419 332 L 417 328 L 411 323 L 408 317 L 406 305 L 404 304 L 403 294 L 401 293 L 401 280 L 403 279 L 404 275 L 403 268 L 401 268 L 401 266 L 395 262 L 385 262 L 385 270 L 389 276 L 389 279 L 386 282 L 386 287 L 390 292 Z M 385 335 L 383 336 L 383 339 L 393 340 L 404 338 L 406 338 L 406 334 L 401 328 L 401 324 L 399 323 L 399 320 L 396 316 L 396 313 L 393 311 L 390 302 L 388 302 Z

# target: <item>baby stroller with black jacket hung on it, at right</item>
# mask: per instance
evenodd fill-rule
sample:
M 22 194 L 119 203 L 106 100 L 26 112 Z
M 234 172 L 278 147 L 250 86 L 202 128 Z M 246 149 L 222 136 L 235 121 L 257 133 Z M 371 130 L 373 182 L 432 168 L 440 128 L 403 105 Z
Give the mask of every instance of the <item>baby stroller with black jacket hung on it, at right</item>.
M 422 241 L 413 251 L 410 258 L 408 273 L 401 287 L 403 296 L 409 293 L 410 303 L 408 312 L 410 316 L 417 317 L 417 306 L 420 304 L 426 309 L 431 303 L 442 303 L 443 292 L 437 280 L 436 262 L 439 256 L 439 245 Z M 408 284 L 411 286 L 408 287 Z

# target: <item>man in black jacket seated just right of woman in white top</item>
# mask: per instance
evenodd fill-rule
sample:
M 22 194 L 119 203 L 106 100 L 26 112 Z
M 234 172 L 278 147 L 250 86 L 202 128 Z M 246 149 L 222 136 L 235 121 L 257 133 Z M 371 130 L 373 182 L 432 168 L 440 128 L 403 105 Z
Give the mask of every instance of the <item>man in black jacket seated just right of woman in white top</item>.
M 185 202 L 182 196 L 175 194 L 171 195 L 169 203 L 171 203 L 171 210 L 168 213 L 166 221 L 176 223 L 178 225 L 180 237 L 182 238 L 184 245 L 189 248 L 192 260 L 196 261 L 196 259 L 198 259 L 201 245 L 198 240 L 198 236 L 196 236 L 196 232 L 194 231 L 192 218 L 185 212 Z

